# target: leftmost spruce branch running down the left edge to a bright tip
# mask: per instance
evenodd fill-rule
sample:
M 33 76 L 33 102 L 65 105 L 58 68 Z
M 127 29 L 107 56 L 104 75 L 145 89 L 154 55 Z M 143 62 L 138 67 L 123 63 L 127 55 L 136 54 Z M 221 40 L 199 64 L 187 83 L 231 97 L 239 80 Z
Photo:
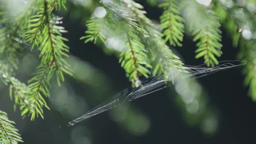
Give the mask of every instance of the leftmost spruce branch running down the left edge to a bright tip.
M 27 97 L 29 95 L 28 88 L 24 83 L 13 77 L 14 69 L 18 68 L 18 54 L 21 51 L 21 43 L 23 31 L 26 27 L 26 22 L 30 14 L 33 13 L 31 8 L 32 4 L 28 3 L 27 11 L 19 13 L 17 16 L 10 16 L 5 10 L 4 6 L 6 3 L 1 2 L 1 12 L 0 16 L 0 79 L 8 85 L 9 95 L 11 100 L 14 98 L 14 110 L 16 106 L 19 105 L 21 112 L 28 109 L 30 106 L 27 104 Z M 22 115 L 22 114 L 21 114 Z

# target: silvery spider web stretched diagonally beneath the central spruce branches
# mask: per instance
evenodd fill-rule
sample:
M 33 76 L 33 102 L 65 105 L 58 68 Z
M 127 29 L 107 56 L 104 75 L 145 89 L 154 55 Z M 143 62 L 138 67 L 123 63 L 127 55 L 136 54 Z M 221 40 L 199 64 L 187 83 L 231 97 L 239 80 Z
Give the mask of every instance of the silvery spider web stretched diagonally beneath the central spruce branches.
M 147 96 L 149 93 L 154 93 L 156 91 L 162 90 L 163 88 L 167 88 L 173 85 L 171 81 L 177 78 L 189 77 L 189 79 L 192 80 L 192 79 L 204 77 L 222 70 L 227 70 L 232 67 L 238 67 L 243 64 L 246 64 L 246 62 L 236 60 L 236 61 L 221 61 L 220 65 L 216 67 L 205 67 L 205 64 L 202 64 L 199 66 L 184 65 L 185 67 L 188 68 L 187 69 L 188 73 L 184 73 L 181 75 L 174 75 L 173 77 L 171 77 L 171 79 L 165 79 L 163 76 L 156 76 L 156 77 L 150 76 L 146 80 L 142 81 L 141 85 L 138 88 L 129 87 L 129 88 L 123 89 L 123 91 L 120 91 L 119 93 L 115 94 L 115 96 L 113 96 L 111 99 L 104 101 L 103 103 L 94 107 L 90 111 L 86 112 L 84 115 L 76 118 L 75 120 L 70 121 L 68 126 L 75 125 L 76 123 L 79 123 L 89 117 L 98 115 L 101 112 L 105 112 L 109 109 L 117 107 L 120 104 L 123 104 L 127 101 L 132 101 L 142 96 Z

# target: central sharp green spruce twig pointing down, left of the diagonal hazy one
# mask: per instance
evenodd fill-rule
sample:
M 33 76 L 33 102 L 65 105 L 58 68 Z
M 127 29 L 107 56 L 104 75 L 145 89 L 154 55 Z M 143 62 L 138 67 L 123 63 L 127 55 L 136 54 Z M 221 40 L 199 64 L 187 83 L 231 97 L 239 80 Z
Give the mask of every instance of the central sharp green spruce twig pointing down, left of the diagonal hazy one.
M 117 3 L 119 6 L 124 6 L 121 1 Z M 138 32 L 142 32 L 143 29 L 128 15 L 117 13 L 120 11 L 120 7 L 113 7 L 112 4 L 108 3 L 105 8 L 108 11 L 107 16 L 101 19 L 92 18 L 91 21 L 88 21 L 88 30 L 85 32 L 88 35 L 81 37 L 81 39 L 85 39 L 85 43 L 89 41 L 96 43 L 97 37 L 99 37 L 101 41 L 105 42 L 109 37 L 104 35 L 103 30 L 115 33 L 115 36 L 123 42 L 123 45 L 119 45 L 120 48 L 118 49 L 125 49 L 119 56 L 121 67 L 125 69 L 126 76 L 133 82 L 132 85 L 139 86 L 135 85 L 135 82 L 139 80 L 139 76 L 148 77 L 151 73 L 149 69 L 152 68 L 147 56 L 148 52 L 138 37 Z

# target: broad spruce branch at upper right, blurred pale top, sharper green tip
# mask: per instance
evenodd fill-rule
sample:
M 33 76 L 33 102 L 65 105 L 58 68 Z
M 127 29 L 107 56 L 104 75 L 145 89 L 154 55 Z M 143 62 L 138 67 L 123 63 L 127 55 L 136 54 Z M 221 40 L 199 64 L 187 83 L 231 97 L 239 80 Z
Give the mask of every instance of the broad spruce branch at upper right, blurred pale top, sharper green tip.
M 204 58 L 204 63 L 209 67 L 219 64 L 216 57 L 220 57 L 221 30 L 219 29 L 219 17 L 208 7 L 204 7 L 194 1 L 189 1 L 184 10 L 185 20 L 189 25 L 189 30 L 197 41 L 195 58 Z

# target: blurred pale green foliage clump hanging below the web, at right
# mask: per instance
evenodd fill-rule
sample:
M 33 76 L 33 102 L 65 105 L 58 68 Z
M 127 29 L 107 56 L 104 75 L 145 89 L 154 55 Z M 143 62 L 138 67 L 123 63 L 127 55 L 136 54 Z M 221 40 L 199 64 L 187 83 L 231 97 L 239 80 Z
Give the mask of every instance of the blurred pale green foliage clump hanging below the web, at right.
M 200 125 L 205 134 L 218 129 L 218 113 L 209 103 L 208 94 L 197 80 L 178 79 L 175 83 L 176 105 L 189 125 Z M 210 122 L 208 122 L 210 121 Z

